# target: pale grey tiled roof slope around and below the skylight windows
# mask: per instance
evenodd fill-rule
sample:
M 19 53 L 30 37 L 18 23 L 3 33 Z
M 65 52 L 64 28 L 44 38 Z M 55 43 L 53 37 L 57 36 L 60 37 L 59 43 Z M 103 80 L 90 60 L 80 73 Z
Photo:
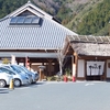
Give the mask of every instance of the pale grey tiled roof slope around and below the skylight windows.
M 7 15 L 8 16 L 8 15 Z M 63 47 L 66 35 L 77 35 L 48 18 L 33 25 L 10 25 L 11 16 L 0 21 L 0 48 L 2 50 L 51 50 Z

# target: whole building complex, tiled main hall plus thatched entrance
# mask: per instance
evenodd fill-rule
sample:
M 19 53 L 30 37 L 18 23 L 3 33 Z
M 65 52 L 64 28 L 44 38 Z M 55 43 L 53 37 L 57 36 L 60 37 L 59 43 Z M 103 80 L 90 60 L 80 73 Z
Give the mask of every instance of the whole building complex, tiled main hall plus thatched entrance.
M 45 75 L 59 70 L 58 48 L 65 55 L 64 69 L 78 80 L 110 78 L 110 37 L 78 35 L 30 1 L 0 20 L 0 62 L 13 58 Z M 25 65 L 25 63 L 28 65 Z

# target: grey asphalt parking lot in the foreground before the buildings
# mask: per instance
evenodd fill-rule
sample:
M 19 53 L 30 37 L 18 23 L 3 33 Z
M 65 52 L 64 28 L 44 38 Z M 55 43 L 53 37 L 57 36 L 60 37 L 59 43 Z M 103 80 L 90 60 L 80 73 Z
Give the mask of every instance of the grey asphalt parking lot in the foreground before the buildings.
M 110 110 L 110 82 L 41 81 L 0 89 L 0 110 Z

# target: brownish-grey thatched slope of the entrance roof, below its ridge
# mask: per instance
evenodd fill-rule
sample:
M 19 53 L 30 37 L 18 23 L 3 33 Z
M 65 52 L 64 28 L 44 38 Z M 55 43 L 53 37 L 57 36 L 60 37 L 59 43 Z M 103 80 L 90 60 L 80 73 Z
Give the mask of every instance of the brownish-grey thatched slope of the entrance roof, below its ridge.
M 110 44 L 73 43 L 72 47 L 78 55 L 110 56 Z

